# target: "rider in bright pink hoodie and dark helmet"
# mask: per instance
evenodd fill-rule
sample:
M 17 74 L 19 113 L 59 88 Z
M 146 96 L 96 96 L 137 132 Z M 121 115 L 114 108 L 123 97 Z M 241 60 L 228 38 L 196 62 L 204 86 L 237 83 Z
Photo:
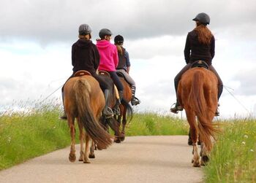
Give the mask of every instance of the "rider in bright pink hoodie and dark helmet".
M 99 70 L 107 71 L 113 79 L 114 84 L 118 89 L 119 100 L 113 108 L 114 114 L 120 114 L 119 105 L 123 98 L 124 87 L 116 74 L 116 66 L 118 66 L 118 52 L 114 44 L 110 43 L 112 32 L 108 28 L 102 28 L 99 31 L 99 38 L 97 39 L 97 48 L 99 50 L 100 61 Z

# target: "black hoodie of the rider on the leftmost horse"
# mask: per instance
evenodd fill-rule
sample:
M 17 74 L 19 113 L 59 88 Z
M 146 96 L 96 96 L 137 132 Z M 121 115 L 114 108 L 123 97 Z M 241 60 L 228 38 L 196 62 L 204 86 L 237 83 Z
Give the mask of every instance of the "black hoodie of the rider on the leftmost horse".
M 99 52 L 91 40 L 78 39 L 72 45 L 72 66 L 74 73 L 80 70 L 96 73 L 99 66 Z

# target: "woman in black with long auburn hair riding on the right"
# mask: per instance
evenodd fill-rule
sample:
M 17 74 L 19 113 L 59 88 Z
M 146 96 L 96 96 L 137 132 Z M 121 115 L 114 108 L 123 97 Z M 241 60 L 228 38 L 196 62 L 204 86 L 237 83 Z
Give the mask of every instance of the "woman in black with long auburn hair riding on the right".
M 220 79 L 219 74 L 214 69 L 214 66 L 211 65 L 211 60 L 214 58 L 215 54 L 215 39 L 214 35 L 208 29 L 207 24 L 210 24 L 210 17 L 204 13 L 199 13 L 194 19 L 196 23 L 196 27 L 193 31 L 187 34 L 186 45 L 184 49 L 184 56 L 187 65 L 184 66 L 183 69 L 176 75 L 174 79 L 174 86 L 176 90 L 178 90 L 178 82 L 181 79 L 181 75 L 184 74 L 195 61 L 205 61 L 208 64 L 208 67 L 218 79 L 218 100 L 222 94 L 223 83 L 222 79 Z M 178 104 L 178 100 L 176 101 L 176 106 L 170 109 L 170 112 L 178 113 L 178 111 L 182 111 L 182 106 Z M 219 112 L 217 110 L 216 116 L 219 116 Z

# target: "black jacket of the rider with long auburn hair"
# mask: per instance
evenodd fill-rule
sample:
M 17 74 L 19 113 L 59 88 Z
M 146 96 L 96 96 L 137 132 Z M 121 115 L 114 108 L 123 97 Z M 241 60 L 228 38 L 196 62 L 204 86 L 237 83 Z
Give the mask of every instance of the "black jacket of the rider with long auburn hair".
M 215 39 L 211 38 L 210 44 L 202 44 L 198 42 L 197 32 L 191 31 L 187 34 L 186 45 L 184 49 L 184 56 L 186 63 L 193 63 L 194 61 L 206 61 L 211 66 L 211 60 L 215 55 Z

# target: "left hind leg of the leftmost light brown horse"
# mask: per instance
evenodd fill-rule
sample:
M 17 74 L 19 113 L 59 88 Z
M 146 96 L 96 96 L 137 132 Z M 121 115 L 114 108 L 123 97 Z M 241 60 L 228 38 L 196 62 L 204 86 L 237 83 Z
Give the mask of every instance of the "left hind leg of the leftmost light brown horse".
M 67 115 L 67 120 L 69 122 L 70 136 L 71 136 L 71 146 L 69 152 L 69 161 L 75 162 L 75 118 Z

